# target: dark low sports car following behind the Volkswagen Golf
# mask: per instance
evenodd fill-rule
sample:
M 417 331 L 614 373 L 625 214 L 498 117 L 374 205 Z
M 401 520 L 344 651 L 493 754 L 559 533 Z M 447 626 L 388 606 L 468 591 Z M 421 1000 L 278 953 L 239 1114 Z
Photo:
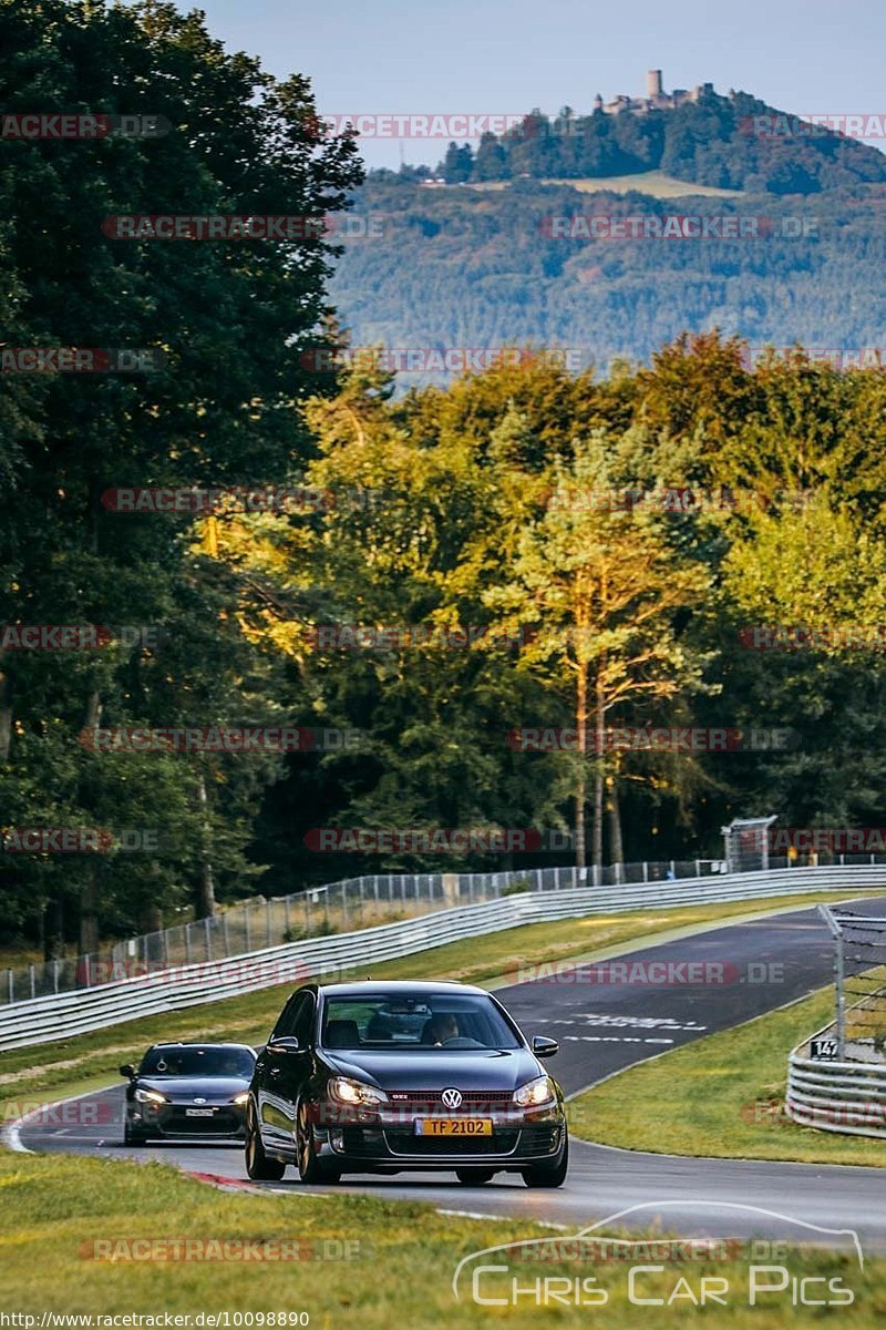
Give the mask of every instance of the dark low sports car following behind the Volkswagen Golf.
M 242 1137 L 254 1068 L 247 1044 L 153 1044 L 138 1071 L 120 1068 L 129 1079 L 124 1141 Z

